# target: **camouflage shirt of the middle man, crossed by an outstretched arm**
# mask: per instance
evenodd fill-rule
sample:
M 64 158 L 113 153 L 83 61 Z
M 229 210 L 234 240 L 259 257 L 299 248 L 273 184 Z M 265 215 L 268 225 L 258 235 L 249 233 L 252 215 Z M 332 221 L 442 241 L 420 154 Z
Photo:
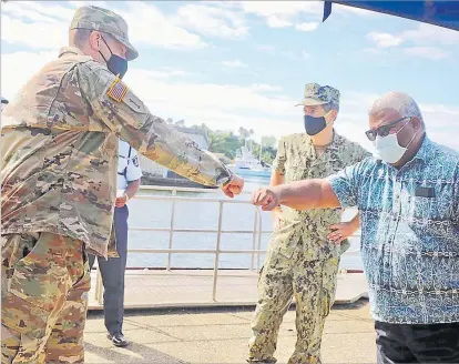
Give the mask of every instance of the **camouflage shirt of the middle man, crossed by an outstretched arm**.
M 327 178 L 369 155 L 359 144 L 334 132 L 332 144 L 317 156 L 310 136 L 297 133 L 280 139 L 273 168 L 285 176 L 285 183 L 289 183 Z M 283 206 L 283 211 L 285 222 L 274 233 L 274 241 L 282 242 L 286 255 L 293 254 L 302 239 L 304 244 L 309 244 L 306 249 L 310 259 L 326 259 L 340 253 L 339 245 L 329 242 L 327 235 L 329 225 L 341 221 L 343 209 L 298 211 Z

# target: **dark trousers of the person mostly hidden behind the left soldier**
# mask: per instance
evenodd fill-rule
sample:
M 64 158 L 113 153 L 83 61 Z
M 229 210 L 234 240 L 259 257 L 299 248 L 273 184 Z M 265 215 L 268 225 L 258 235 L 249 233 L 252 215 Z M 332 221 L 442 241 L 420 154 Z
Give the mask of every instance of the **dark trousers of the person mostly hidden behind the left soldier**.
M 120 257 L 98 256 L 101 270 L 103 293 L 103 311 L 105 314 L 105 327 L 110 334 L 122 334 L 124 315 L 124 271 L 128 259 L 128 206 L 115 208 L 114 231 L 116 237 L 116 251 Z M 90 266 L 94 264 L 94 255 L 90 255 Z

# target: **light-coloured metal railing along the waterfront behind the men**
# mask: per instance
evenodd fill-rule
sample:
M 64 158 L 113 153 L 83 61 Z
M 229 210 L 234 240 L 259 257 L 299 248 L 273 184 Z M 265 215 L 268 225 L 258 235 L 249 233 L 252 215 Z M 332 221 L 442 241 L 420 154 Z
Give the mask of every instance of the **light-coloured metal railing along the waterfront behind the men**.
M 142 186 L 142 190 L 146 191 L 169 191 L 171 192 L 170 196 L 165 195 L 142 195 L 137 194 L 136 200 L 153 200 L 153 201 L 171 201 L 172 211 L 171 220 L 169 228 L 130 228 L 130 231 L 150 231 L 150 232 L 169 232 L 169 247 L 167 249 L 129 249 L 129 253 L 142 253 L 142 254 L 155 254 L 155 253 L 167 253 L 167 265 L 166 270 L 171 270 L 172 255 L 177 253 L 187 253 L 187 254 L 214 254 L 214 269 L 213 269 L 213 289 L 212 289 L 212 300 L 216 302 L 216 287 L 218 280 L 218 264 L 221 254 L 251 254 L 251 270 L 258 271 L 261 263 L 261 254 L 265 253 L 265 250 L 262 250 L 262 235 L 272 233 L 272 230 L 263 231 L 263 219 L 261 209 L 254 206 L 254 229 L 253 230 L 223 230 L 223 211 L 224 205 L 226 204 L 251 204 L 247 200 L 230 200 L 230 199 L 214 199 L 214 198 L 196 198 L 196 196 L 177 196 L 177 192 L 197 192 L 197 193 L 216 193 L 216 190 L 206 190 L 206 189 L 194 189 L 194 188 L 167 188 L 167 186 Z M 243 192 L 243 194 L 249 194 L 249 192 Z M 175 206 L 176 202 L 208 202 L 208 203 L 218 203 L 218 223 L 217 229 L 176 229 L 175 228 Z M 174 232 L 181 233 L 216 233 L 216 244 L 215 249 L 173 249 L 173 235 Z M 221 240 L 222 234 L 249 234 L 252 233 L 252 250 L 222 250 Z M 356 235 L 358 236 L 358 235 Z M 346 252 L 345 254 L 354 254 L 356 252 Z M 256 269 L 255 269 L 255 257 L 256 257 Z M 102 304 L 102 294 L 103 285 L 100 270 L 98 269 L 96 281 L 95 281 L 95 300 L 99 304 Z

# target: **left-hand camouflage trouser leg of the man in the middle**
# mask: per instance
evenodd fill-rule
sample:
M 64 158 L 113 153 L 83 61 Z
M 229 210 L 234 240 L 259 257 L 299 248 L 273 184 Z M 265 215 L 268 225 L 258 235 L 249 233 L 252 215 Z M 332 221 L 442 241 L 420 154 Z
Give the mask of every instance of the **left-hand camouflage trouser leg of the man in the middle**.
M 277 335 L 292 297 L 292 261 L 276 251 L 268 251 L 258 279 L 258 302 L 248 342 L 249 361 L 276 361 Z

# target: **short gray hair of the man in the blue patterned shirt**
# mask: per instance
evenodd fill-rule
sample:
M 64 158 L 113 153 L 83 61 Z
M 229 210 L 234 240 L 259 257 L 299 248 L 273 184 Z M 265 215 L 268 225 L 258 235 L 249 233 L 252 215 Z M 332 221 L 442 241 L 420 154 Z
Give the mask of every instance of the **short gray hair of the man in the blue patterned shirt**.
M 416 117 L 424 125 L 422 114 L 416 101 L 402 92 L 388 92 L 377 99 L 368 111 L 369 115 L 377 114 L 385 109 L 392 109 L 397 111 L 400 118 Z

